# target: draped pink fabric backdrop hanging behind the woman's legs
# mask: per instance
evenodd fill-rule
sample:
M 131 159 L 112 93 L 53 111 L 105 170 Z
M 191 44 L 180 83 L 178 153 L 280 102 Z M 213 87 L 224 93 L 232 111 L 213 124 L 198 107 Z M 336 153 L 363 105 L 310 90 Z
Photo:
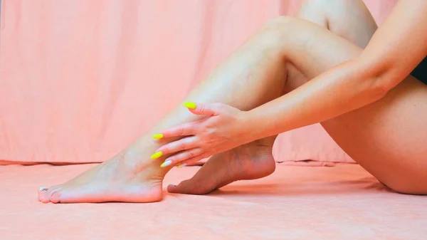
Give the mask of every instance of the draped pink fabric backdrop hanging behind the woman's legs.
M 381 23 L 396 0 L 366 1 Z M 100 162 L 171 110 L 263 22 L 300 1 L 3 0 L 0 160 Z M 276 160 L 352 161 L 320 125 Z

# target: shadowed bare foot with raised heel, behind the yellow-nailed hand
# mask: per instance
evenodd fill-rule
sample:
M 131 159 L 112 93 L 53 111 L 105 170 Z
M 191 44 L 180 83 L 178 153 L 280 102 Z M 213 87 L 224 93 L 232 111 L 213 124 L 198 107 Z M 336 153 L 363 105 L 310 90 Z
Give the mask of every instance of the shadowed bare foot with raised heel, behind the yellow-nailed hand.
M 170 184 L 168 192 L 207 194 L 231 182 L 266 177 L 275 170 L 273 142 L 275 137 L 250 142 L 212 156 L 194 177 L 177 186 Z

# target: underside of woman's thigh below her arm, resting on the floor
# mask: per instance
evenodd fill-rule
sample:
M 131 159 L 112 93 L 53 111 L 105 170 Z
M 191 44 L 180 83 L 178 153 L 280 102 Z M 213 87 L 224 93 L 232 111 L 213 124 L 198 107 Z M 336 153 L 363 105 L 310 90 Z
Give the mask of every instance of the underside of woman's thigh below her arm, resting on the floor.
M 427 194 L 427 85 L 408 76 L 381 100 L 321 124 L 391 189 Z

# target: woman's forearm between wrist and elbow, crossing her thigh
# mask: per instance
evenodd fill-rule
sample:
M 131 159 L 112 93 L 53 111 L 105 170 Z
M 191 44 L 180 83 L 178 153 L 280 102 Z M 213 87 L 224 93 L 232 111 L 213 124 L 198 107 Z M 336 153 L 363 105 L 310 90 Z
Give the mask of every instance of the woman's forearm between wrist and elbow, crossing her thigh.
M 246 112 L 257 139 L 323 122 L 382 98 L 381 75 L 369 73 L 357 59 L 327 71 L 292 92 Z

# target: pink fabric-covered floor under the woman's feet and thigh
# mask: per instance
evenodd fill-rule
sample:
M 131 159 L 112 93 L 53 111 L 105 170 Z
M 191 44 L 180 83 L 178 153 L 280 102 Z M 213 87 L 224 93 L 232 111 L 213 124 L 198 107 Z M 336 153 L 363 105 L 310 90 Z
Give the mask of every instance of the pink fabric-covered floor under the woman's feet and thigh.
M 0 239 L 426 239 L 427 198 L 395 194 L 359 165 L 278 165 L 264 179 L 152 204 L 41 204 L 40 186 L 93 165 L 0 166 Z M 173 169 L 165 186 L 198 167 Z

